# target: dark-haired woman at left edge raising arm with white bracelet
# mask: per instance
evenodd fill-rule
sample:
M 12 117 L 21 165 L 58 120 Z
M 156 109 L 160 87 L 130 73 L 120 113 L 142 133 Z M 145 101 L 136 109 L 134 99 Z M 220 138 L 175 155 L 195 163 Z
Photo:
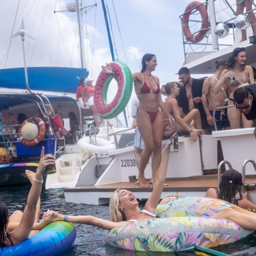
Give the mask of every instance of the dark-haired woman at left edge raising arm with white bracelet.
M 28 200 L 22 217 L 18 226 L 11 232 L 7 232 L 7 227 L 9 230 L 12 230 L 11 226 L 8 226 L 11 220 L 9 213 L 4 202 L 0 201 L 0 247 L 10 247 L 17 245 L 24 240 L 26 240 L 32 227 L 34 225 L 35 215 L 37 211 L 37 203 L 40 197 L 43 184 L 43 172 L 45 167 L 55 163 L 54 157 L 52 155 L 45 155 L 45 148 L 42 148 L 41 158 L 39 161 L 39 166 L 35 172 L 33 178 L 33 184 L 28 194 Z M 45 224 L 48 224 L 46 222 Z

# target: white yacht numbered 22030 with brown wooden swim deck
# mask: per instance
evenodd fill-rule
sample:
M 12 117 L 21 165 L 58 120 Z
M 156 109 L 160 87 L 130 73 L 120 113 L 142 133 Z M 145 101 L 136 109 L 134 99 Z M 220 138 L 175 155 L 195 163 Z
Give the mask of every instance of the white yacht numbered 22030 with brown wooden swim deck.
M 189 19 L 189 28 L 193 35 L 203 32 L 205 36 L 200 43 L 191 43 L 187 37 L 183 37 L 184 63 L 182 67 L 189 68 L 192 75 L 214 74 L 215 60 L 227 59 L 236 47 L 244 47 L 247 53 L 247 65 L 256 66 L 256 47 L 254 45 L 256 42 L 253 41 L 253 38 L 251 38 L 251 42 L 249 39 L 239 42 L 241 31 L 236 28 L 234 22 L 236 1 L 209 0 L 203 4 L 207 8 L 209 26 L 192 31 L 195 24 L 201 24 L 201 20 L 195 22 L 192 17 Z M 193 8 L 193 13 L 199 9 L 198 6 Z M 253 3 L 254 13 L 255 7 Z M 187 13 L 181 14 L 180 19 Z M 225 28 L 229 28 L 225 38 L 217 38 L 214 33 L 215 26 L 219 23 L 224 23 L 226 24 Z M 181 30 L 183 30 L 182 27 Z M 247 29 L 247 35 L 252 35 L 250 27 Z M 249 199 L 256 203 L 254 182 L 256 180 L 254 169 L 256 165 L 247 165 L 248 162 L 256 161 L 256 139 L 253 130 L 254 128 L 215 131 L 212 135 L 202 135 L 196 143 L 191 142 L 188 136 L 179 136 L 180 147 L 178 153 L 170 154 L 166 180 L 169 186 L 163 188 L 162 197 L 168 195 L 204 196 L 208 188 L 217 187 L 217 141 L 220 140 L 224 160 L 228 161 L 226 163 L 229 164 L 229 167 L 232 166 L 237 171 L 245 171 L 246 175 L 243 179 L 250 184 L 247 186 Z M 106 157 L 88 158 L 81 165 L 76 186 L 64 189 L 67 202 L 105 204 L 108 203 L 113 191 L 117 188 L 129 189 L 141 200 L 150 196 L 152 186 L 144 188 L 135 185 L 138 170 L 135 165 L 134 147 L 119 148 L 115 132 L 109 135 L 115 137 L 116 149 L 110 150 Z M 166 143 L 166 140 L 163 141 L 163 147 Z M 78 163 L 79 160 L 75 162 Z M 99 166 L 104 166 L 102 173 L 96 171 Z M 221 167 L 223 165 L 219 166 L 219 177 Z M 89 176 L 89 173 L 94 173 L 94 177 Z M 97 174 L 101 174 L 100 177 L 97 177 Z M 145 169 L 145 176 L 147 179 L 151 178 L 150 162 Z

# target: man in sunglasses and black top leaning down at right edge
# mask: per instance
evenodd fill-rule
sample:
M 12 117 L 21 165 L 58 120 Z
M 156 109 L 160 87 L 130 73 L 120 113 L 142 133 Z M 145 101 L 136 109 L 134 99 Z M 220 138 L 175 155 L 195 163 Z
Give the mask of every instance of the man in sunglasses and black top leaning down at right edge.
M 247 120 L 256 122 L 256 84 L 240 87 L 234 92 L 234 105 L 246 117 Z M 256 128 L 254 129 L 256 138 Z

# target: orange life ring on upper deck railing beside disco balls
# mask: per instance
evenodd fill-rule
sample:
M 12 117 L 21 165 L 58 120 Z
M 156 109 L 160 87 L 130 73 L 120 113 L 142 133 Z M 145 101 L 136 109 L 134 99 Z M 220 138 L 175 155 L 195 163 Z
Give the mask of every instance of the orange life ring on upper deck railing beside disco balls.
M 192 12 L 192 9 L 197 6 L 195 9 L 197 9 L 200 12 L 200 15 L 202 17 L 202 25 L 201 30 L 208 28 L 209 20 L 208 20 L 208 13 L 206 10 L 206 7 L 204 4 L 202 4 L 199 1 L 193 1 L 191 2 L 185 9 L 183 17 L 182 17 L 182 30 L 184 33 L 184 36 L 186 37 L 187 41 L 191 43 L 199 43 L 204 38 L 207 30 L 203 30 L 198 32 L 196 35 L 192 35 L 190 29 L 189 29 L 189 16 Z

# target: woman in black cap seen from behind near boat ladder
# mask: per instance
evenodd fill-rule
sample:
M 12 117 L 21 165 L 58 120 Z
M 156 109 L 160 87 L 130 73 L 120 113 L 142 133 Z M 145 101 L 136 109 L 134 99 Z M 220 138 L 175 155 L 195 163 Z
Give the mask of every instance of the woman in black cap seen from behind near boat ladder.
M 242 193 L 244 187 L 241 173 L 228 170 L 223 173 L 219 191 L 211 187 L 206 192 L 206 197 L 219 198 L 245 209 L 256 209 L 256 205 L 248 200 L 248 194 Z

